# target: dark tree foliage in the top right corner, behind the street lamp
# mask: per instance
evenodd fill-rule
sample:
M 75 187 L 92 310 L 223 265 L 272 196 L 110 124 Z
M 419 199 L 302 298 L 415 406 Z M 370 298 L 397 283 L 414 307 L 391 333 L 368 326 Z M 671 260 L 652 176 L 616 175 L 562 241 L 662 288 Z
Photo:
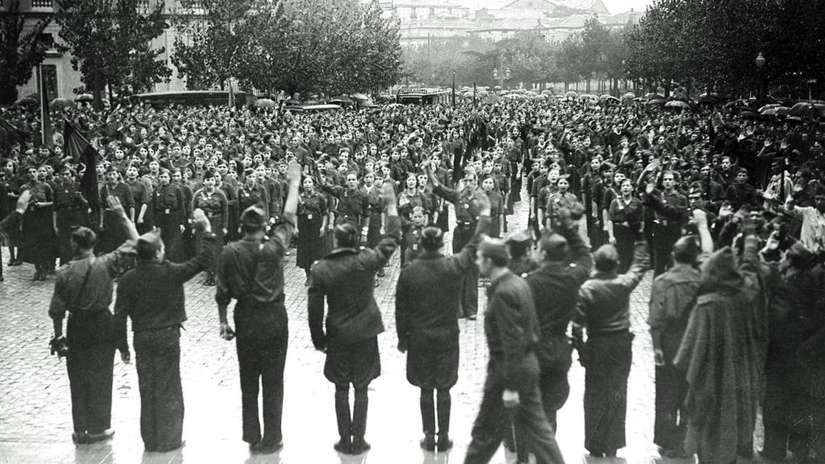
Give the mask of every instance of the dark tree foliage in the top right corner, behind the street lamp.
M 627 70 L 663 86 L 745 92 L 766 78 L 788 85 L 817 79 L 822 88 L 823 17 L 823 0 L 657 0 L 625 34 Z

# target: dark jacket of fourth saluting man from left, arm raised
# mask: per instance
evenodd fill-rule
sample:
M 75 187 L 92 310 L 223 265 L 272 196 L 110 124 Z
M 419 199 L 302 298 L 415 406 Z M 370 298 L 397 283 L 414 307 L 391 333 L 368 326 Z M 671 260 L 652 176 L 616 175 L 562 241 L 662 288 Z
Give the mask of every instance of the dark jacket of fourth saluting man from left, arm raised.
M 387 218 L 386 233 L 375 249 L 339 248 L 315 263 L 309 280 L 309 332 L 315 348 L 356 343 L 384 332 L 375 303 L 375 272 L 384 267 L 401 239 L 401 220 Z M 328 311 L 323 329 L 323 303 Z

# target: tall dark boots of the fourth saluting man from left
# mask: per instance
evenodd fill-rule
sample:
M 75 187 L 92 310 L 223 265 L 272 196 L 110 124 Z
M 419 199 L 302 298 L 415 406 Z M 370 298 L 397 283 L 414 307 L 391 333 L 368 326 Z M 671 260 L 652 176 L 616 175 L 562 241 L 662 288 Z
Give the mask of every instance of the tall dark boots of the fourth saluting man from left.
M 366 412 L 369 405 L 367 387 L 356 387 L 356 401 L 350 415 L 349 386 L 335 386 L 335 416 L 338 423 L 338 435 L 341 439 L 335 443 L 337 452 L 344 454 L 361 454 L 370 450 L 366 443 Z

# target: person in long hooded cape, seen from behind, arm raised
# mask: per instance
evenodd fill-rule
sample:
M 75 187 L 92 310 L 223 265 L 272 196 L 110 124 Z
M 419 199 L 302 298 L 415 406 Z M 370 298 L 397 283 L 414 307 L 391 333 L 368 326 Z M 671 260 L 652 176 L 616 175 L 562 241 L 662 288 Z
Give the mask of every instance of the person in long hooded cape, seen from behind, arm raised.
M 729 247 L 703 264 L 700 294 L 674 361 L 688 383 L 685 451 L 696 452 L 700 464 L 728 464 L 752 453 L 766 305 L 758 239 L 746 233 L 740 265 Z

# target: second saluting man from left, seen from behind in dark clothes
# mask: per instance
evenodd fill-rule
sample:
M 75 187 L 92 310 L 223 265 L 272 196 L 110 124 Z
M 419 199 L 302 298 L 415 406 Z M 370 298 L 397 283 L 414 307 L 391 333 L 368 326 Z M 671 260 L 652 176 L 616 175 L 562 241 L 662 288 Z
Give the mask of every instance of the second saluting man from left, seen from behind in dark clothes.
M 138 262 L 117 286 L 115 315 L 128 315 L 132 320 L 140 390 L 140 436 L 148 452 L 169 452 L 183 446 L 183 284 L 210 267 L 215 249 L 215 237 L 204 212 L 198 208 L 192 217 L 193 227 L 203 233 L 195 258 L 186 263 L 164 259 L 163 239 L 158 230 L 152 230 L 139 237 Z

